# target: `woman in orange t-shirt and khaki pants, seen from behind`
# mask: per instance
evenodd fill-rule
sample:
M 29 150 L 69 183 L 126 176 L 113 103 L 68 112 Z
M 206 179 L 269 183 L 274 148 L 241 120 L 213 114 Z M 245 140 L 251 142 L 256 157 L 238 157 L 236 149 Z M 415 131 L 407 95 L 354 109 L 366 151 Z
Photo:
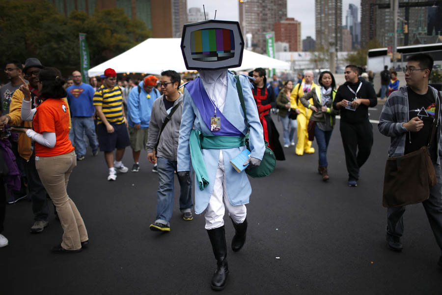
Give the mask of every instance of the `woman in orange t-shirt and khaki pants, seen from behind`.
M 30 92 L 26 84 L 20 89 L 25 94 L 22 102 L 22 120 L 32 121 L 33 130 L 15 128 L 26 132 L 34 141 L 35 167 L 46 191 L 54 203 L 63 228 L 63 238 L 54 253 L 80 252 L 87 247 L 89 238 L 83 218 L 66 187 L 77 158 L 69 140 L 69 109 L 65 83 L 56 68 L 46 67 L 38 75 L 39 98 L 42 103 L 32 109 Z

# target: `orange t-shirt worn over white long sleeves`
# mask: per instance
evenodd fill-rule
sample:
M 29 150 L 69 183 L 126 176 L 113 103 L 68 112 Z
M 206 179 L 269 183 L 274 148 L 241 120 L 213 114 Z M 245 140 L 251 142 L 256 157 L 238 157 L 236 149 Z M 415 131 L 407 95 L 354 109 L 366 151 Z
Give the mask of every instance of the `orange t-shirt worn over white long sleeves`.
M 35 142 L 36 156 L 53 157 L 74 150 L 69 140 L 69 109 L 63 100 L 48 98 L 43 101 L 37 107 L 32 124 L 35 132 L 55 132 L 56 138 L 54 148 L 48 148 Z

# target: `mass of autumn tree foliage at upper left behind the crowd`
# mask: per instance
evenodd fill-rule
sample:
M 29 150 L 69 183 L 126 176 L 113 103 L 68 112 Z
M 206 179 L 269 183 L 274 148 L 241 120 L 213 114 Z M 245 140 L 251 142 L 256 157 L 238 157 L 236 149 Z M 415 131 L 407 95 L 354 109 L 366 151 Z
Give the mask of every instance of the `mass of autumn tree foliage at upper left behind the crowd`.
M 111 59 L 151 36 L 140 20 L 121 8 L 96 10 L 92 16 L 59 13 L 46 0 L 0 1 L 2 62 L 38 58 L 63 74 L 80 68 L 79 33 L 86 33 L 91 66 Z

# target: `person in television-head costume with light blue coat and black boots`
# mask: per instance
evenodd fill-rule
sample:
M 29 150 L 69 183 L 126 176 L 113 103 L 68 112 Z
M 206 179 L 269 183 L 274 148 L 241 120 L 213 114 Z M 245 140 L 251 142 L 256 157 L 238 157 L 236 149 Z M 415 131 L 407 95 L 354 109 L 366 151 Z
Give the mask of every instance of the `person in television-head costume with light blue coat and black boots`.
M 211 287 L 222 290 L 229 272 L 224 212 L 227 209 L 235 228 L 231 247 L 237 252 L 246 241 L 245 204 L 251 194 L 245 170 L 238 173 L 230 160 L 246 149 L 249 133 L 251 153 L 244 166 L 259 166 L 265 151 L 263 129 L 249 77 L 238 76 L 246 122 L 235 75 L 227 69 L 240 66 L 242 61 L 244 40 L 238 22 L 209 20 L 184 25 L 181 49 L 186 67 L 198 70 L 199 78 L 184 86 L 177 173 L 190 178 L 191 164 L 195 171 L 195 213 L 204 212 L 205 229 L 217 260 Z M 213 119 L 216 131 L 211 131 Z

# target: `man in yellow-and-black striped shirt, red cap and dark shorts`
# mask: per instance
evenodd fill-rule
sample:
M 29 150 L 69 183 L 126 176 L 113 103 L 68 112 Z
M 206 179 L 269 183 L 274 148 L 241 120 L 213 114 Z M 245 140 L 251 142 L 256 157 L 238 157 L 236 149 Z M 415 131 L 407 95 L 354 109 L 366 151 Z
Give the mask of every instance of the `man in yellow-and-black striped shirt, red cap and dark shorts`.
M 116 172 L 126 173 L 129 169 L 123 165 L 124 149 L 129 146 L 127 121 L 123 109 L 123 92 L 116 85 L 114 69 L 105 70 L 103 85 L 94 94 L 94 106 L 98 114 L 97 137 L 100 150 L 104 151 L 109 167 L 108 180 L 116 180 Z M 113 150 L 115 152 L 115 161 Z

